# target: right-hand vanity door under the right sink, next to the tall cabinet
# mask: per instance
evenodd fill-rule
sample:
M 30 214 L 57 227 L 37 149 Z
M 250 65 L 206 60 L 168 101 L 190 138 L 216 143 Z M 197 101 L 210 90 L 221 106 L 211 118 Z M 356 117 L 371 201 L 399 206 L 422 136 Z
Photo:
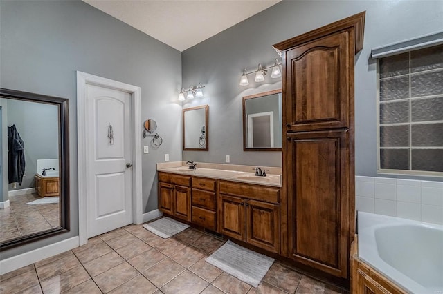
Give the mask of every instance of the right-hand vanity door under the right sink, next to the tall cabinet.
M 280 208 L 277 204 L 245 200 L 246 242 L 280 253 Z

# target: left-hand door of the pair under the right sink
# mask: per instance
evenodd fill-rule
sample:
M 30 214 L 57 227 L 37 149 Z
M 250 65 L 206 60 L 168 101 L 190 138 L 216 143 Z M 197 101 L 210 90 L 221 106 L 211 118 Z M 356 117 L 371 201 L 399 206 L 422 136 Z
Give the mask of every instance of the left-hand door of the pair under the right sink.
M 221 194 L 220 205 L 220 231 L 221 233 L 244 241 L 245 219 L 244 199 Z

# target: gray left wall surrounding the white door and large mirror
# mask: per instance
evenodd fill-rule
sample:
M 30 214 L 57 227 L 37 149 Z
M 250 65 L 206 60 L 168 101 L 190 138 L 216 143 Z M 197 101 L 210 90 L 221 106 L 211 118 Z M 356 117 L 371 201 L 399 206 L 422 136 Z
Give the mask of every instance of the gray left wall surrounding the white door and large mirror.
M 143 155 L 143 210 L 155 209 L 156 163 L 164 153 L 181 160 L 180 52 L 82 1 L 0 5 L 0 86 L 69 99 L 71 161 L 71 232 L 4 251 L 0 258 L 78 235 L 76 70 L 141 87 L 140 124 L 155 119 L 163 137 L 159 148 Z

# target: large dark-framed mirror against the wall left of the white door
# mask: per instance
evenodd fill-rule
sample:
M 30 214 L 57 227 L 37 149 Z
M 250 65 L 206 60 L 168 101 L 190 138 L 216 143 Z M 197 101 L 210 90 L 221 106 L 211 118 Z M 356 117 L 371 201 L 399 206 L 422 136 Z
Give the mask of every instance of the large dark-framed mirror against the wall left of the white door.
M 0 251 L 69 231 L 68 99 L 0 88 Z

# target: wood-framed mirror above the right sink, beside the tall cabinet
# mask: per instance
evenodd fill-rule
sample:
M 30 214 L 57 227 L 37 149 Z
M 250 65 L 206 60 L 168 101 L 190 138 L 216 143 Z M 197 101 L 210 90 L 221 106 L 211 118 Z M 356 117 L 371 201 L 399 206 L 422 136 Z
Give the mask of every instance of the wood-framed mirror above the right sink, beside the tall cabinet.
M 243 150 L 282 150 L 282 90 L 243 97 Z

